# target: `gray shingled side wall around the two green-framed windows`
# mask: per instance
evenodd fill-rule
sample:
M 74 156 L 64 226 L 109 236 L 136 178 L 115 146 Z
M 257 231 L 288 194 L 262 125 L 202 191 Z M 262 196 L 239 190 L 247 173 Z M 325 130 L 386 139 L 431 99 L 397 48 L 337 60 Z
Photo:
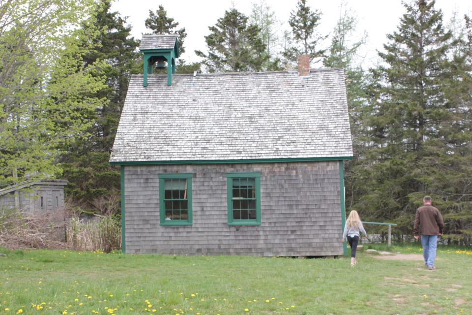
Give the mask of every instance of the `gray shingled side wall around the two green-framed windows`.
M 228 226 L 227 172 L 261 172 L 262 224 Z M 193 225 L 159 225 L 159 173 L 192 173 Z M 339 162 L 125 166 L 127 253 L 343 254 Z

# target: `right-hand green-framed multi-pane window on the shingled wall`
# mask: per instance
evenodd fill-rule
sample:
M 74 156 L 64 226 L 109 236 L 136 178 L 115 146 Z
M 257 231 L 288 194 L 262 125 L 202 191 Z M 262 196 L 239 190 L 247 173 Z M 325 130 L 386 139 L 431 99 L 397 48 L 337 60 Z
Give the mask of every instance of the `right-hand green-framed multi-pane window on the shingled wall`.
M 228 225 L 261 225 L 261 173 L 226 173 L 226 179 Z M 238 182 L 242 181 L 246 184 L 238 184 Z M 250 190 L 249 185 L 254 185 L 253 191 Z M 241 193 L 241 191 L 244 191 L 245 194 Z M 233 195 L 234 192 L 238 194 L 237 197 Z M 238 204 L 237 208 L 239 209 L 234 209 L 234 205 Z M 235 211 L 238 212 L 237 215 Z M 251 211 L 255 212 L 252 213 L 254 219 L 249 219 Z M 235 219 L 235 216 L 245 217 L 245 219 Z

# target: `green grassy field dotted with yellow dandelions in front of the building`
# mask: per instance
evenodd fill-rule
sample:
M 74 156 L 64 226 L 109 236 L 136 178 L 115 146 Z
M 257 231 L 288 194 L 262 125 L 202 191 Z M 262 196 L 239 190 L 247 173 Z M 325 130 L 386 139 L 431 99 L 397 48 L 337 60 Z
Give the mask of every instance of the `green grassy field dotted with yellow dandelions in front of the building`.
M 365 251 L 355 267 L 344 257 L 0 252 L 0 315 L 472 314 L 470 248 L 440 248 L 436 271 Z

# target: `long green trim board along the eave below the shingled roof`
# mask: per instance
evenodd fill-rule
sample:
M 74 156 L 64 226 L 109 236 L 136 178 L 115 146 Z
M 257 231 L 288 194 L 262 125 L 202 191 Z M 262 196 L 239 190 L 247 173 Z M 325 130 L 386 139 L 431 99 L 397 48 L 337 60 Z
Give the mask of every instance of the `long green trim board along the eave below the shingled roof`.
M 253 158 L 253 159 L 213 159 L 213 160 L 173 160 L 173 161 L 123 161 L 110 162 L 111 165 L 149 165 L 149 164 L 234 164 L 234 163 L 282 163 L 282 162 L 315 162 L 343 161 L 353 157 L 324 157 L 324 158 Z

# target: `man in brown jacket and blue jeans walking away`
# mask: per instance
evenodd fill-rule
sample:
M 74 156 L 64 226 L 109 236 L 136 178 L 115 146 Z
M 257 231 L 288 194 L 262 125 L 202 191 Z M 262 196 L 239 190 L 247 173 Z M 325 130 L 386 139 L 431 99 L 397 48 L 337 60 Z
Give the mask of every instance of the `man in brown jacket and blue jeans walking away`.
M 413 235 L 417 240 L 421 234 L 421 245 L 423 246 L 424 265 L 429 270 L 435 270 L 434 259 L 436 258 L 436 246 L 438 235 L 442 235 L 444 221 L 441 212 L 431 205 L 431 197 L 423 198 L 424 206 L 416 210 L 414 218 Z

